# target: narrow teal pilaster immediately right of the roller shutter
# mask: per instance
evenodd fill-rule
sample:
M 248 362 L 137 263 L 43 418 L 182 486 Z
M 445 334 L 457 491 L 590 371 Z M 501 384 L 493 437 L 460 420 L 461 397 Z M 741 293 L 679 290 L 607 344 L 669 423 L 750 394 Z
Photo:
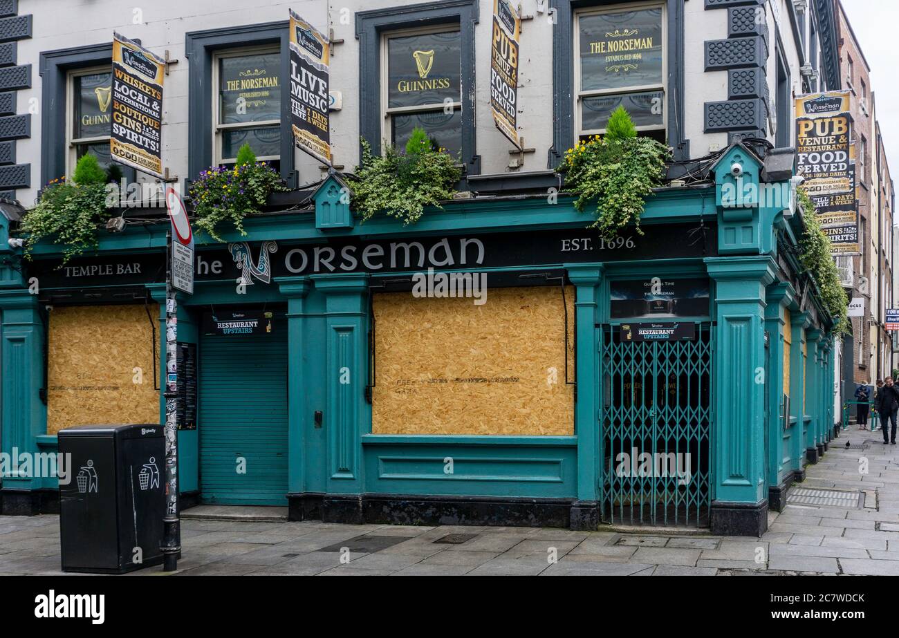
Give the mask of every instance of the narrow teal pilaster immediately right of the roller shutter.
M 277 277 L 281 294 L 288 298 L 288 518 L 306 520 L 306 428 L 313 415 L 306 412 L 306 384 L 303 369 L 304 324 L 306 296 L 312 285 L 307 277 Z

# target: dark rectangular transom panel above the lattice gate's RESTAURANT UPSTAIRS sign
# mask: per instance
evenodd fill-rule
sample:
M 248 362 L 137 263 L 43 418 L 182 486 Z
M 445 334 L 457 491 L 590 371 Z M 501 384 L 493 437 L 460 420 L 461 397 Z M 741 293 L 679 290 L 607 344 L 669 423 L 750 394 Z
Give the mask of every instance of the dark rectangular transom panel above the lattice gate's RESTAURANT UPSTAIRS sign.
M 704 317 L 709 313 L 708 279 L 625 279 L 609 284 L 612 319 Z

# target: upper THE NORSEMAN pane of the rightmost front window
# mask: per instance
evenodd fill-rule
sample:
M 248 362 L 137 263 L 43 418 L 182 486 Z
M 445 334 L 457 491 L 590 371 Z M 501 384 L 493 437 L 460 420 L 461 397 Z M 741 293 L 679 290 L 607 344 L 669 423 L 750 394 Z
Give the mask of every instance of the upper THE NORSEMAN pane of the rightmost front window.
M 584 15 L 581 90 L 662 84 L 662 9 Z

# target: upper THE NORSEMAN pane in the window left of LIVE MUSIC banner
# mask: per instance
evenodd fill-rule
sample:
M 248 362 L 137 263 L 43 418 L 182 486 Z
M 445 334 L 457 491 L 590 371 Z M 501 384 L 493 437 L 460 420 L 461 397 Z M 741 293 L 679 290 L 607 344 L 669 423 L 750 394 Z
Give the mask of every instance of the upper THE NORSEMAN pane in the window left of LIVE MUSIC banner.
M 280 120 L 280 54 L 221 58 L 218 122 Z

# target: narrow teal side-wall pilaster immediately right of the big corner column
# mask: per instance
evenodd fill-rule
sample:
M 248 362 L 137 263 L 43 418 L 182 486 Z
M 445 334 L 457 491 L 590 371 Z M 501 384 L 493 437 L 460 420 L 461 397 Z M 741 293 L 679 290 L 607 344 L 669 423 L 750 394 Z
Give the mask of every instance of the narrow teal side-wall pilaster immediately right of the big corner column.
M 768 438 L 768 503 L 771 510 L 782 511 L 787 505 L 788 474 L 792 470 L 784 466 L 788 456 L 790 437 L 789 416 L 783 411 L 784 388 L 784 330 L 787 323 L 785 306 L 793 302 L 796 291 L 788 282 L 772 284 L 765 294 L 765 332 L 769 336 L 768 375 L 765 377 L 768 422 L 765 432 Z M 789 329 L 789 328 L 787 328 Z

